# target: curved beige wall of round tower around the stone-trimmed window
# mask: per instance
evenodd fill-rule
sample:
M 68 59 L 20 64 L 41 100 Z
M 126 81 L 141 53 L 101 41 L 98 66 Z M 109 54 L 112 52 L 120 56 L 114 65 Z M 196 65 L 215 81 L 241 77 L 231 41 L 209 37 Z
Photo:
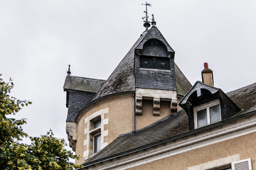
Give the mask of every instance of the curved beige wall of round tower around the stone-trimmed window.
M 133 98 L 132 94 L 124 94 L 120 96 L 113 96 L 105 100 L 99 101 L 94 105 L 88 107 L 83 111 L 77 120 L 78 123 L 78 140 L 76 143 L 76 154 L 83 156 L 87 150 L 87 146 L 84 145 L 84 141 L 87 139 L 87 124 L 85 118 L 90 117 L 94 113 L 102 111 L 102 109 L 108 112 L 104 114 L 104 119 L 108 119 L 108 124 L 104 125 L 104 130 L 108 131 L 108 135 L 104 137 L 104 142 L 112 142 L 120 134 L 132 132 L 132 116 L 133 116 Z M 81 157 L 77 164 L 85 162 L 85 157 Z

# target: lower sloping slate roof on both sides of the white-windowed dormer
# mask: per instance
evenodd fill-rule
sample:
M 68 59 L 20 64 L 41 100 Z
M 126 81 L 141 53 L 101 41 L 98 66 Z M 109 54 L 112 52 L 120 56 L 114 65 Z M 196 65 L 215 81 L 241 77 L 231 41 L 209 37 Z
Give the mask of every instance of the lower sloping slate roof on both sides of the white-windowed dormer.
M 147 147 L 178 139 L 178 137 L 200 132 L 200 130 L 206 128 L 217 127 L 218 125 L 231 122 L 235 118 L 240 118 L 243 115 L 248 116 L 256 113 L 256 83 L 235 91 L 230 91 L 227 95 L 243 109 L 243 114 L 240 113 L 240 115 L 234 116 L 233 118 L 188 131 L 188 116 L 185 111 L 181 110 L 175 115 L 169 115 L 146 128 L 137 130 L 137 132 L 120 135 L 110 145 L 90 159 L 87 159 L 83 165 L 88 166 L 114 157 L 120 157 L 124 154 L 137 152 L 139 149 L 146 149 Z

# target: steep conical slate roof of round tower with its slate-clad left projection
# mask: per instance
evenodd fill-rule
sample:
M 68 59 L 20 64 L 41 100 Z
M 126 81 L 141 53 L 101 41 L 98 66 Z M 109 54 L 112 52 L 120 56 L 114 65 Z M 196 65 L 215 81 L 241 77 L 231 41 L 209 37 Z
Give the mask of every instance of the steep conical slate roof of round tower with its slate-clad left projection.
M 150 38 L 158 38 L 166 45 L 169 52 L 174 54 L 174 50 L 170 47 L 168 42 L 164 39 L 163 35 L 156 27 L 152 27 L 149 31 L 144 31 L 139 39 L 134 43 L 127 55 L 124 56 L 122 61 L 117 65 L 116 69 L 112 72 L 107 80 L 102 79 L 90 79 L 85 77 L 67 76 L 64 84 L 64 91 L 71 90 L 84 91 L 92 94 L 80 94 L 72 92 L 72 95 L 78 96 L 76 101 L 73 95 L 73 101 L 70 101 L 68 106 L 68 118 L 67 121 L 74 122 L 82 111 L 102 98 L 107 98 L 112 95 L 134 93 L 135 91 L 135 78 L 134 78 L 134 55 L 135 49 L 142 48 L 143 43 Z M 177 93 L 181 96 L 191 88 L 191 84 L 183 75 L 178 66 L 174 63 L 175 80 L 173 89 L 177 89 Z M 161 75 L 160 77 L 163 77 Z M 82 99 L 81 99 L 82 98 Z M 71 100 L 70 99 L 70 100 Z M 78 103 L 79 102 L 79 103 Z M 68 105 L 68 101 L 67 101 Z

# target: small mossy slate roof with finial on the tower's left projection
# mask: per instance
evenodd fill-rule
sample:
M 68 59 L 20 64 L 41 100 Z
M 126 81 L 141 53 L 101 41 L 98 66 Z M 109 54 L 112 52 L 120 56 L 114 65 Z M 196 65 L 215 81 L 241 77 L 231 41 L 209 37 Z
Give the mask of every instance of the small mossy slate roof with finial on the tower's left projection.
M 67 76 L 63 86 L 64 90 L 86 91 L 90 93 L 97 93 L 105 80 L 90 79 L 85 77 Z

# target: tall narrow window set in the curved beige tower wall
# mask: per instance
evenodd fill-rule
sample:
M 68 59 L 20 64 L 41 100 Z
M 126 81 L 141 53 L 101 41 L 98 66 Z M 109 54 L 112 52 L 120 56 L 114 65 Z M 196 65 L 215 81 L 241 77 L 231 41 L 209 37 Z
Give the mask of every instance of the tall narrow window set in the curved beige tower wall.
M 101 117 L 98 116 L 90 120 L 90 148 L 95 154 L 101 149 Z

